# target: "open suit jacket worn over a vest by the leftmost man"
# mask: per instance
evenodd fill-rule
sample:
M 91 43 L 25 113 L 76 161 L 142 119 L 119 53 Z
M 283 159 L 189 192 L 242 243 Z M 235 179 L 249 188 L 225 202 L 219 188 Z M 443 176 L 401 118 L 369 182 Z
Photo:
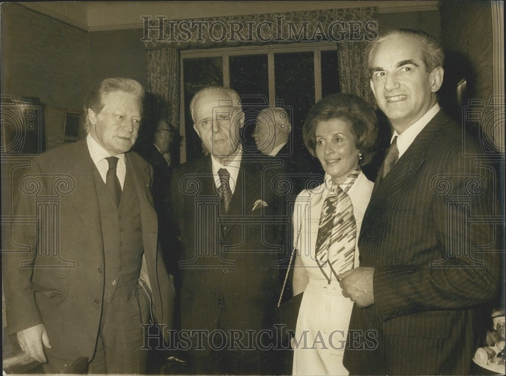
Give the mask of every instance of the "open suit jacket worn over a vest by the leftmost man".
M 174 288 L 157 250 L 151 168 L 135 153 L 126 153 L 125 162 L 140 203 L 154 319 L 170 327 Z M 53 347 L 46 351 L 64 359 L 91 359 L 99 331 L 104 249 L 94 168 L 86 139 L 35 158 L 14 205 L 24 219 L 11 232 L 25 251 L 3 254 L 9 333 L 44 323 Z

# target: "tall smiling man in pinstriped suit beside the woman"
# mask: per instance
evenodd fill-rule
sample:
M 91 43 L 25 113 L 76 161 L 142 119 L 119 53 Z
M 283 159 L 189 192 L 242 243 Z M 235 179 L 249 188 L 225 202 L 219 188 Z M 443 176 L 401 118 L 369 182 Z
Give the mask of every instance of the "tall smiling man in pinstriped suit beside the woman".
M 367 63 L 394 132 L 360 267 L 340 275 L 355 302 L 344 364 L 351 374 L 468 374 L 480 308 L 499 288 L 494 171 L 439 108 L 443 52 L 432 37 L 390 31 Z

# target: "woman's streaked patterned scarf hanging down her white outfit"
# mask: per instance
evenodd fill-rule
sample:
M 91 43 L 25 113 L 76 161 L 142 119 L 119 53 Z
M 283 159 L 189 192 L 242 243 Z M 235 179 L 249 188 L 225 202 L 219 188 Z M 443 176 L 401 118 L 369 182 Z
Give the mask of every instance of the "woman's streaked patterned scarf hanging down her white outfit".
M 338 274 L 353 268 L 355 261 L 357 224 L 353 215 L 353 204 L 347 192 L 359 173 L 360 169 L 357 169 L 348 176 L 344 183 L 345 191 L 339 185 L 332 184 L 321 210 L 315 256 L 328 283 L 332 274 L 337 279 Z M 325 270 L 327 262 L 330 275 Z

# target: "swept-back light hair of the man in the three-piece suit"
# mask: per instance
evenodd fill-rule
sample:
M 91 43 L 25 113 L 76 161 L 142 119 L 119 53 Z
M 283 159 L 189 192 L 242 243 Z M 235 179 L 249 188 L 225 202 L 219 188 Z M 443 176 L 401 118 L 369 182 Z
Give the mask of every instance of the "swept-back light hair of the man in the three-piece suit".
M 103 102 L 104 96 L 113 91 L 124 91 L 132 94 L 139 100 L 142 111 L 142 99 L 144 98 L 144 88 L 142 85 L 132 78 L 113 77 L 106 78 L 98 86 L 95 86 L 85 102 L 85 129 L 89 132 L 91 122 L 88 116 L 88 109 L 98 114 L 105 106 Z

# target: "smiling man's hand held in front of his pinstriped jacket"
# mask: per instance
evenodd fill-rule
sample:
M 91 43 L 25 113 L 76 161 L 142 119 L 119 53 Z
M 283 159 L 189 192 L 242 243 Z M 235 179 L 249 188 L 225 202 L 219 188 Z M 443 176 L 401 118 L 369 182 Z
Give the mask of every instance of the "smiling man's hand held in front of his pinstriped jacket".
M 350 298 L 360 308 L 374 304 L 372 291 L 373 274 L 374 268 L 362 266 L 339 274 L 339 284 L 343 289 L 343 296 Z

